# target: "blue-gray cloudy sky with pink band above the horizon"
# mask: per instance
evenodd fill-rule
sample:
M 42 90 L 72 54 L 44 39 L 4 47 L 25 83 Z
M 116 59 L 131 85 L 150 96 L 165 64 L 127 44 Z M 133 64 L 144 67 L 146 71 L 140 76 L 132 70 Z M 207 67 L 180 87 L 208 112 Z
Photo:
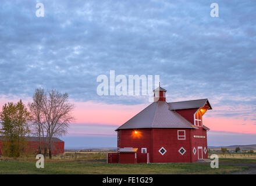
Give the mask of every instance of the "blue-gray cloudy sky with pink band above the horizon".
M 150 104 L 97 95 L 97 77 L 110 70 L 159 75 L 168 102 L 208 98 L 209 145 L 255 144 L 255 1 L 0 3 L 0 106 L 29 102 L 38 87 L 67 92 L 76 121 L 66 147 L 116 146 L 115 128 Z

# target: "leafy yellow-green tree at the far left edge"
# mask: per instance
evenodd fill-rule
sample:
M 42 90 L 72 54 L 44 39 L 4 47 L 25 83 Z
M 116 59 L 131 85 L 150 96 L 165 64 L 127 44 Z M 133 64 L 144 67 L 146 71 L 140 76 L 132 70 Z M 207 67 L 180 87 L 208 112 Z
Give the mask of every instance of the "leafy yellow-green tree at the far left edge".
M 8 156 L 17 157 L 25 152 L 26 135 L 30 134 L 30 112 L 20 99 L 16 104 L 5 104 L 0 113 L 1 135 L 5 138 L 3 151 Z

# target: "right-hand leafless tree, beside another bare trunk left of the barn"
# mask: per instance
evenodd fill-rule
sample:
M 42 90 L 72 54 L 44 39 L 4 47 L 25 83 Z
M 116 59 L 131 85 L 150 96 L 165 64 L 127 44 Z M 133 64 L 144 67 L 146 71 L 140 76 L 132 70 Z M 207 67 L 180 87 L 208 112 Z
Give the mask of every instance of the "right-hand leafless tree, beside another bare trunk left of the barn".
M 67 133 L 67 128 L 74 120 L 72 110 L 74 105 L 68 102 L 69 95 L 56 90 L 48 92 L 42 99 L 42 113 L 45 117 L 45 128 L 48 135 L 49 158 L 52 158 L 52 137 L 61 137 Z

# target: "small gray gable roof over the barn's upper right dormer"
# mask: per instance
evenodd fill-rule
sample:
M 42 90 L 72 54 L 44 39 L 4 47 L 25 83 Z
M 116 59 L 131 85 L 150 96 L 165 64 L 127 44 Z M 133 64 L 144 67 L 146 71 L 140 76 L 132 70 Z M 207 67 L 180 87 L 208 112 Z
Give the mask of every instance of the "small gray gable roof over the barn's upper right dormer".
M 180 102 L 172 102 L 168 103 L 170 110 L 179 110 L 179 109 L 193 109 L 193 108 L 201 108 L 204 107 L 205 104 L 208 104 L 209 110 L 212 109 L 208 99 L 197 99 L 191 101 L 180 101 Z

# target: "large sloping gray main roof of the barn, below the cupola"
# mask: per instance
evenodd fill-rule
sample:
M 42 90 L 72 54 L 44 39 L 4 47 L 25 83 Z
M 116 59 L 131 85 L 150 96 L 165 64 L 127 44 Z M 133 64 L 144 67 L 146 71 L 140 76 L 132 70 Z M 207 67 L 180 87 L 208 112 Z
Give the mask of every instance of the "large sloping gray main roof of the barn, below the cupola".
M 188 120 L 173 110 L 165 101 L 153 102 L 144 110 L 132 117 L 119 129 L 128 128 L 195 128 Z

